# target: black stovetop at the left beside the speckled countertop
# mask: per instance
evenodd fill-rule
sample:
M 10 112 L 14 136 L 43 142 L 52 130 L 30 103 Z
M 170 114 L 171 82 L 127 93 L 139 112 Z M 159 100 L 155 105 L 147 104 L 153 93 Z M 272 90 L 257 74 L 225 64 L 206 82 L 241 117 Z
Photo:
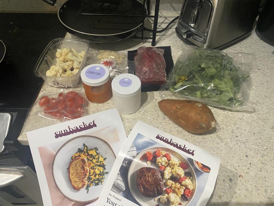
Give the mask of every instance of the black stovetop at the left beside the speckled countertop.
M 46 45 L 65 34 L 56 13 L 0 13 L 0 39 L 7 49 L 0 63 L 0 112 L 13 115 L 6 147 L 21 147 L 18 135 L 43 84 L 34 66 Z

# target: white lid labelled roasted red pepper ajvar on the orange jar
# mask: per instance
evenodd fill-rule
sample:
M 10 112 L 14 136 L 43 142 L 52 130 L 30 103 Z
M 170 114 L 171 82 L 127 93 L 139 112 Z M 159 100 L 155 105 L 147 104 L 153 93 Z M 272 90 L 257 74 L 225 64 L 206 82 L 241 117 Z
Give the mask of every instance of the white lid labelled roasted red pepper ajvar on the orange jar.
M 100 86 L 108 82 L 109 78 L 109 70 L 102 64 L 90 64 L 81 71 L 82 82 L 89 86 Z

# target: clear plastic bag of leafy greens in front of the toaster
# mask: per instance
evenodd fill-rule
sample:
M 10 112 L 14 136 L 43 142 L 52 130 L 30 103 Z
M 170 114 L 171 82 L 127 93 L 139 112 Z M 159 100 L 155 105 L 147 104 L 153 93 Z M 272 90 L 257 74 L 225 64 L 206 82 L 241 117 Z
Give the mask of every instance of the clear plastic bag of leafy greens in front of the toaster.
M 186 46 L 160 88 L 163 99 L 194 99 L 237 111 L 254 111 L 249 101 L 254 54 L 224 53 Z

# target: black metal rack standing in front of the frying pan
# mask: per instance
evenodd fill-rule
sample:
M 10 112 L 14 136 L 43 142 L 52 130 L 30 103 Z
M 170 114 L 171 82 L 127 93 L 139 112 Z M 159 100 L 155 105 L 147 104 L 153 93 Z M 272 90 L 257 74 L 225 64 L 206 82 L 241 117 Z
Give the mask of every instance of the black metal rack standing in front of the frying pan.
M 147 14 L 146 14 L 146 2 L 147 2 Z M 93 16 L 131 16 L 131 17 L 143 17 L 143 22 L 141 26 L 141 36 L 132 36 L 133 39 L 152 39 L 151 45 L 154 47 L 156 45 L 156 34 L 157 34 L 157 26 L 158 26 L 158 17 L 159 17 L 159 7 L 160 7 L 160 0 L 156 0 L 155 3 L 155 13 L 154 15 L 150 15 L 150 0 L 143 1 L 143 14 L 142 15 L 123 15 L 123 14 L 95 14 L 95 13 L 84 13 L 83 11 L 86 8 L 83 8 L 80 11 L 81 15 L 93 15 Z M 153 30 L 152 30 L 152 37 L 144 36 L 144 20 L 147 18 L 154 18 L 153 21 Z

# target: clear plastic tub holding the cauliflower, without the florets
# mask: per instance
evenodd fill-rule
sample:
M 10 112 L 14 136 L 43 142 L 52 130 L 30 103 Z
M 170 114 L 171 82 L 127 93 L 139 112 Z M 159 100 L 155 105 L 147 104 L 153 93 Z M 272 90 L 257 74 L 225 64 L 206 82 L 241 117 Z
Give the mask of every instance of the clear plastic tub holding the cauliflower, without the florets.
M 89 47 L 89 41 L 85 39 L 71 39 L 71 38 L 57 38 L 53 39 L 44 49 L 43 53 L 39 57 L 35 68 L 34 68 L 34 74 L 35 76 L 42 77 L 46 84 L 49 86 L 54 87 L 76 87 L 80 75 L 81 70 L 85 66 L 85 62 L 88 55 L 88 47 Z M 46 76 L 46 71 L 49 70 L 49 68 L 52 65 L 56 64 L 56 52 L 57 49 L 62 48 L 74 48 L 77 52 L 85 51 L 85 56 L 83 58 L 83 61 L 80 64 L 79 71 L 73 75 L 73 76 Z

